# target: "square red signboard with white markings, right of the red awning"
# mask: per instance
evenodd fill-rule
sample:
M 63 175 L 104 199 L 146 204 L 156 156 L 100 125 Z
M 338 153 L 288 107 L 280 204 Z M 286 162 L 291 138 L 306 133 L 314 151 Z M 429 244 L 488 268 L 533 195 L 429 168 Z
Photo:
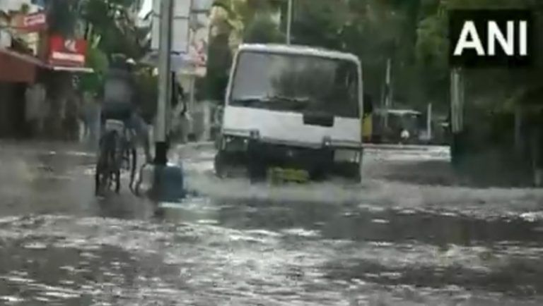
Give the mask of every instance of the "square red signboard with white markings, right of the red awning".
M 49 64 L 53 66 L 85 66 L 87 42 L 83 39 L 65 39 L 55 35 L 49 38 Z

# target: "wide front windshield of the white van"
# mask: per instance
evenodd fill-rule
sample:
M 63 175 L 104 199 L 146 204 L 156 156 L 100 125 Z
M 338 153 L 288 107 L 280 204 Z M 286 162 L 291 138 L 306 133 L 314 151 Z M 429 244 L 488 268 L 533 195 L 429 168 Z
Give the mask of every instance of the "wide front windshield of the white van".
M 358 68 L 321 56 L 243 51 L 230 105 L 358 118 Z

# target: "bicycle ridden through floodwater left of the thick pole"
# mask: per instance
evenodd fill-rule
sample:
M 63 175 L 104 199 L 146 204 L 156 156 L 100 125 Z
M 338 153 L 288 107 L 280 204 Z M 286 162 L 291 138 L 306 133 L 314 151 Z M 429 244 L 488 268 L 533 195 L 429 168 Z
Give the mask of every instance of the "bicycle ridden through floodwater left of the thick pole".
M 134 134 L 134 130 L 127 128 L 122 121 L 105 121 L 95 169 L 95 195 L 111 190 L 114 181 L 115 192 L 119 193 L 122 169 L 130 171 L 129 188 L 132 190 L 137 165 Z

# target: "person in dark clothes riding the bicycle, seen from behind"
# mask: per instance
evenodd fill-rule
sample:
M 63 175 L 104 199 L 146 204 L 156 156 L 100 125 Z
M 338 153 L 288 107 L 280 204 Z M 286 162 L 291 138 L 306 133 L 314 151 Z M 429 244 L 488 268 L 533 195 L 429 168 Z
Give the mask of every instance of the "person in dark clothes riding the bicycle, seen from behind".
M 108 71 L 103 89 L 101 123 L 104 126 L 107 119 L 123 121 L 144 147 L 146 161 L 151 162 L 148 128 L 136 109 L 138 94 L 133 75 L 134 64 L 134 60 L 129 59 Z

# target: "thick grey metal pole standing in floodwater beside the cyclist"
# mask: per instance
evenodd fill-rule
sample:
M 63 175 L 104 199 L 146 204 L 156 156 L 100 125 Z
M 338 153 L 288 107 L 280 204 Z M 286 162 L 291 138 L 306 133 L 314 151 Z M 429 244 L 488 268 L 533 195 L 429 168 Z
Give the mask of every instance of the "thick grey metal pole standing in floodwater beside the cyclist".
M 172 0 L 160 3 L 160 44 L 158 49 L 158 105 L 155 128 L 155 164 L 168 163 L 168 145 L 166 144 L 166 108 L 170 87 L 170 49 L 172 44 Z

